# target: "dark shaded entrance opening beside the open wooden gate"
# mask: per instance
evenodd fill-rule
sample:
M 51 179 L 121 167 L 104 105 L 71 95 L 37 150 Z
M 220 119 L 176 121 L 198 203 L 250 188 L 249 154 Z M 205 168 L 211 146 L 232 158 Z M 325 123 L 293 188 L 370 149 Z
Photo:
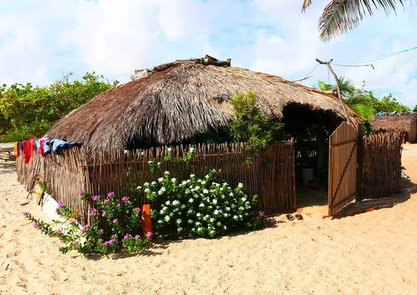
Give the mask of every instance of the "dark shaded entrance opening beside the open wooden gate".
M 285 132 L 295 141 L 297 208 L 327 205 L 329 137 L 342 120 L 297 103 L 286 106 L 283 115 Z

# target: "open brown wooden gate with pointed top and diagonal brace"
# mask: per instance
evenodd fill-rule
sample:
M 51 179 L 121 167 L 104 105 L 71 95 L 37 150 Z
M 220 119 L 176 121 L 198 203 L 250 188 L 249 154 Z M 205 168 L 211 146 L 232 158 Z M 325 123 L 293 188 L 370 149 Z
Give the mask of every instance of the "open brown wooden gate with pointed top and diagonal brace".
M 357 197 L 359 133 L 345 121 L 329 139 L 329 217 Z

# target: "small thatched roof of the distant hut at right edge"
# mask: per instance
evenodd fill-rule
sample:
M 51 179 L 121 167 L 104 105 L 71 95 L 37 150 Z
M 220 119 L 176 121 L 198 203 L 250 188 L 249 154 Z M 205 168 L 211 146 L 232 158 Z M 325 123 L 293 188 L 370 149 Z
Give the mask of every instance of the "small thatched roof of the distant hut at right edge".
M 398 128 L 409 133 L 414 120 L 417 120 L 417 112 L 407 112 L 402 115 L 382 115 L 370 119 L 369 122 L 374 126 L 375 130 Z

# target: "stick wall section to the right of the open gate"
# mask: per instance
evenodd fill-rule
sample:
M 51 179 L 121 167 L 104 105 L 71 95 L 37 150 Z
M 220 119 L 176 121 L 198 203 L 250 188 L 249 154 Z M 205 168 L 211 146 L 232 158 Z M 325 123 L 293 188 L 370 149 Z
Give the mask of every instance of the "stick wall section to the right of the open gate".
M 389 130 L 363 137 L 362 199 L 378 199 L 402 192 L 404 136 L 404 130 Z

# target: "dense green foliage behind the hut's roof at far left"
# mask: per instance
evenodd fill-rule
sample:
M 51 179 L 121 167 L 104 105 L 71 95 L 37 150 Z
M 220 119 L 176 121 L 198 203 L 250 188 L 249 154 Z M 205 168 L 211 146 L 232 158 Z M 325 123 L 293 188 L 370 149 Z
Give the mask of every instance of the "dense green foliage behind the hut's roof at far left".
M 57 119 L 118 83 L 104 81 L 95 72 L 72 82 L 71 76 L 49 87 L 31 83 L 0 86 L 0 132 L 41 136 Z

